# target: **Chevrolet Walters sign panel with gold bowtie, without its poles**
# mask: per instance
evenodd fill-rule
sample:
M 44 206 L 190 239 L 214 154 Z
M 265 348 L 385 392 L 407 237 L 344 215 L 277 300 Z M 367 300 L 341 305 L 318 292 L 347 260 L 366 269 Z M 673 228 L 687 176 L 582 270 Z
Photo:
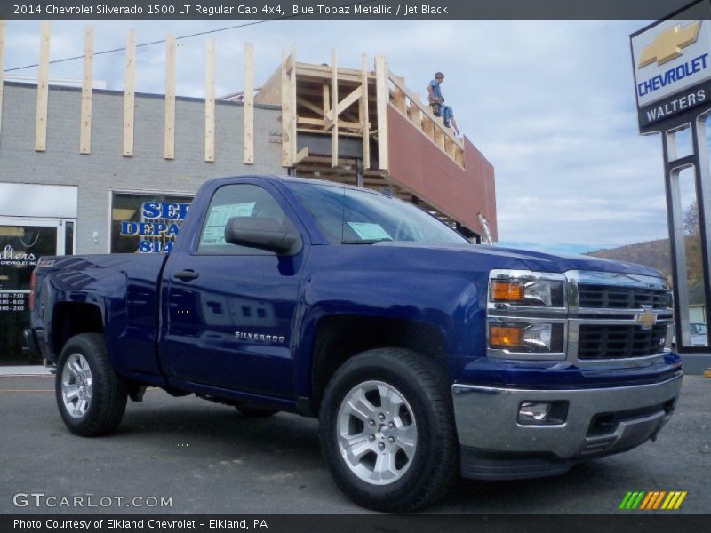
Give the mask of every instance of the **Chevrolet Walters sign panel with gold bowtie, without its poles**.
M 709 7 L 708 0 L 700 2 L 675 19 L 660 20 L 631 36 L 642 131 L 711 102 Z

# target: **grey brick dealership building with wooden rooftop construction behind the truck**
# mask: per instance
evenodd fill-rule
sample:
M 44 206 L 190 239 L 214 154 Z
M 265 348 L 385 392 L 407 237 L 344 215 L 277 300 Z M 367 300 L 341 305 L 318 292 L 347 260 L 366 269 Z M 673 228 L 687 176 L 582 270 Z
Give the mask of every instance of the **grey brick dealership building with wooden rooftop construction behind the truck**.
M 175 94 L 175 39 L 165 40 L 165 92 L 135 85 L 135 35 L 127 36 L 121 91 L 92 79 L 92 28 L 84 78 L 49 76 L 51 27 L 39 75 L 2 79 L 0 20 L 0 364 L 27 363 L 32 270 L 44 255 L 166 253 L 206 179 L 240 174 L 319 178 L 387 189 L 472 240 L 497 239 L 494 171 L 466 138 L 392 74 L 387 59 L 359 68 L 308 64 L 295 50 L 258 88 L 244 50 L 244 91 L 214 93 L 215 43 L 205 52 L 205 97 Z

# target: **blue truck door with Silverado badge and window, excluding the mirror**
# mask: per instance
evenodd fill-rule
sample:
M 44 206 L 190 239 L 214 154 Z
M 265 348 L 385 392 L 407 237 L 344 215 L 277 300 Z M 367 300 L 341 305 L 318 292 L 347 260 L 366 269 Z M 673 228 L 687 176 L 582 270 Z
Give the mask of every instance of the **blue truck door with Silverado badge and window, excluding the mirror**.
M 166 264 L 164 370 L 184 381 L 293 397 L 292 322 L 307 242 L 293 256 L 226 243 L 232 217 L 274 219 L 305 233 L 269 184 L 217 188 L 190 251 L 172 253 Z

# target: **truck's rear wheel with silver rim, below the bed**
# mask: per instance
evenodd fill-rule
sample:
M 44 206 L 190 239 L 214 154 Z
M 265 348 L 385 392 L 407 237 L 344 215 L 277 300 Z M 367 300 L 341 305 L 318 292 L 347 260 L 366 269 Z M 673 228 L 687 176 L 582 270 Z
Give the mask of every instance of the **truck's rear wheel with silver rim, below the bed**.
M 95 437 L 116 429 L 128 391 L 108 362 L 102 335 L 82 333 L 68 340 L 57 365 L 55 393 L 61 418 L 73 434 Z

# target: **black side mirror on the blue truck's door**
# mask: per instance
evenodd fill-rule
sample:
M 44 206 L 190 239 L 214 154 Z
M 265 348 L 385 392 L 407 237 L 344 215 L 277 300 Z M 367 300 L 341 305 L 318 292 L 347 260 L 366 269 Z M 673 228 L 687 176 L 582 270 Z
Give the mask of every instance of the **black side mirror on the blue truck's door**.
M 301 237 L 280 227 L 274 219 L 232 217 L 225 226 L 225 241 L 238 246 L 295 255 L 301 250 Z

